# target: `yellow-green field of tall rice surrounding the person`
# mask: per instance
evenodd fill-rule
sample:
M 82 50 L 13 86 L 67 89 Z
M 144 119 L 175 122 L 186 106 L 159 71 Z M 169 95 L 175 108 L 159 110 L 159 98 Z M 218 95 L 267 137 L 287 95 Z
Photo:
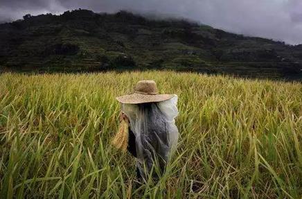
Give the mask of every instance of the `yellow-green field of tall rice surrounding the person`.
M 159 182 L 112 146 L 138 80 L 179 96 Z M 147 71 L 0 75 L 0 198 L 301 198 L 302 84 Z

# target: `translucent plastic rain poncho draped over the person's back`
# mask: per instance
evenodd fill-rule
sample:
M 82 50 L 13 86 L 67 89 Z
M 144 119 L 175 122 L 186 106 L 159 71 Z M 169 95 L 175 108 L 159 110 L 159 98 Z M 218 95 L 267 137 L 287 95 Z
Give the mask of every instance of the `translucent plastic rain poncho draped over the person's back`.
M 163 172 L 177 147 L 177 98 L 175 95 L 168 101 L 158 103 L 122 105 L 123 112 L 130 120 L 130 130 L 136 137 L 136 166 L 144 179 L 155 162 Z

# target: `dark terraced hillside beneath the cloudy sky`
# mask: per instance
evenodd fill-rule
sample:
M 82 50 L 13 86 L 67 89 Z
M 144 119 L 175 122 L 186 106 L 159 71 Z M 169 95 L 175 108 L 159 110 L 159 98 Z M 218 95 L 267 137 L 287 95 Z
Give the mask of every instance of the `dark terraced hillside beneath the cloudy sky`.
M 296 76 L 302 46 L 130 12 L 27 16 L 0 25 L 1 71 L 175 69 L 239 76 Z

